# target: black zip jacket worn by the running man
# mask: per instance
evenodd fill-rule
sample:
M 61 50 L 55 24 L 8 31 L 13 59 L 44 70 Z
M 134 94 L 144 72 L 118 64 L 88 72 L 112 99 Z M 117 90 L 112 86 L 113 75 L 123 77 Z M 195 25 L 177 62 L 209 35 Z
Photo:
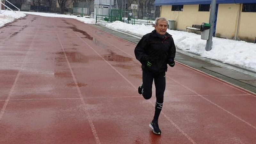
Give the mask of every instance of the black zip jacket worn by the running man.
M 170 34 L 166 33 L 165 38 L 160 38 L 153 30 L 140 39 L 134 53 L 143 70 L 163 72 L 167 71 L 167 60 L 174 60 L 176 48 Z M 148 60 L 152 63 L 150 68 L 147 66 Z

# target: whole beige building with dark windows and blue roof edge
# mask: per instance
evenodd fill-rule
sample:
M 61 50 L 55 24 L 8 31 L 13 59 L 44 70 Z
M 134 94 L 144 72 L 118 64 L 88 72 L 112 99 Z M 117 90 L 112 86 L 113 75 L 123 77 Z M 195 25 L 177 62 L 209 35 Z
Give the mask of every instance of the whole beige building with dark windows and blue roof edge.
M 211 1 L 175 1 L 164 0 L 163 3 L 163 0 L 156 0 L 155 5 L 161 5 L 160 17 L 176 21 L 176 30 L 186 31 L 187 26 L 209 23 Z M 238 2 L 241 4 L 234 4 L 233 0 L 217 0 L 214 34 L 216 37 L 255 42 L 256 0 L 236 0 L 236 3 Z M 191 32 L 189 29 L 187 31 Z

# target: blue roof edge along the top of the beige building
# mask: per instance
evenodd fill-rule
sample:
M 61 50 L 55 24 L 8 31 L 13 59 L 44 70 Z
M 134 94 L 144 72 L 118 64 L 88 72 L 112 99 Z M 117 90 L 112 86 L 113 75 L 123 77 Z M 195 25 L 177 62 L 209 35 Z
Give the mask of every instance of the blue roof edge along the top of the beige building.
M 155 5 L 211 4 L 212 0 L 155 0 Z M 256 0 L 217 0 L 217 4 L 256 3 Z

